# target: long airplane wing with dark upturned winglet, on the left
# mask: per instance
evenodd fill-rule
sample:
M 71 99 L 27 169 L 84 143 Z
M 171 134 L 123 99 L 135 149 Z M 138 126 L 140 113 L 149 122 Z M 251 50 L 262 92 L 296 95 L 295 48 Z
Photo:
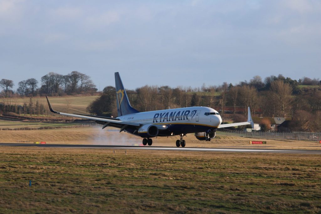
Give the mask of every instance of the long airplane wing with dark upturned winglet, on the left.
M 81 115 L 81 114 L 67 114 L 63 112 L 56 112 L 52 109 L 51 104 L 49 102 L 48 97 L 46 96 L 47 101 L 48 101 L 48 106 L 51 112 L 60 114 L 60 115 L 65 115 L 65 116 L 72 116 L 72 117 L 79 117 L 79 118 L 84 118 L 84 119 L 89 119 L 89 120 L 95 120 L 96 123 L 102 124 L 103 129 L 106 128 L 107 126 L 112 126 L 116 128 L 120 128 L 120 132 L 122 132 L 125 128 L 129 126 L 133 126 L 133 128 L 138 128 L 140 126 L 139 123 L 132 123 L 128 121 L 122 121 L 117 118 L 112 118 L 112 117 L 101 117 L 101 116 L 92 116 L 92 115 Z

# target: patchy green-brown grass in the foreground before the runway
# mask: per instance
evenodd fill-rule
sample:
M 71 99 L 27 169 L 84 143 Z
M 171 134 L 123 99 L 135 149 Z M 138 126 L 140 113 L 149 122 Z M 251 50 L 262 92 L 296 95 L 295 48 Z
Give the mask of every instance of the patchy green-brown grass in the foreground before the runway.
M 320 179 L 318 155 L 1 147 L 0 213 L 320 213 Z

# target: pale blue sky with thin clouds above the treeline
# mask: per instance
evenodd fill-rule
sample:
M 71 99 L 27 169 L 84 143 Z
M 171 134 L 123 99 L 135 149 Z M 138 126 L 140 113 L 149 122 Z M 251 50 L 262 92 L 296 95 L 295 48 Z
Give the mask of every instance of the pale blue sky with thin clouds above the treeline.
M 97 88 L 321 78 L 321 1 L 0 0 L 0 79 L 78 71 Z M 39 84 L 40 86 L 40 84 Z

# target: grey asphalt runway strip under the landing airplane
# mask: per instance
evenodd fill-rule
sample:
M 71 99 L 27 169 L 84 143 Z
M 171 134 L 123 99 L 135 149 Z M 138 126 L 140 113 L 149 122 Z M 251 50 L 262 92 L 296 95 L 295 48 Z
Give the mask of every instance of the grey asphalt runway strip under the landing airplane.
M 165 147 L 165 146 L 111 146 L 111 145 L 77 145 L 77 144 L 34 144 L 34 143 L 0 143 L 0 146 L 55 147 L 82 149 L 135 149 L 135 150 L 170 150 L 170 151 L 205 151 L 205 152 L 263 152 L 292 154 L 321 154 L 321 150 L 278 150 L 278 149 L 242 149 L 242 148 L 199 148 L 199 147 Z

